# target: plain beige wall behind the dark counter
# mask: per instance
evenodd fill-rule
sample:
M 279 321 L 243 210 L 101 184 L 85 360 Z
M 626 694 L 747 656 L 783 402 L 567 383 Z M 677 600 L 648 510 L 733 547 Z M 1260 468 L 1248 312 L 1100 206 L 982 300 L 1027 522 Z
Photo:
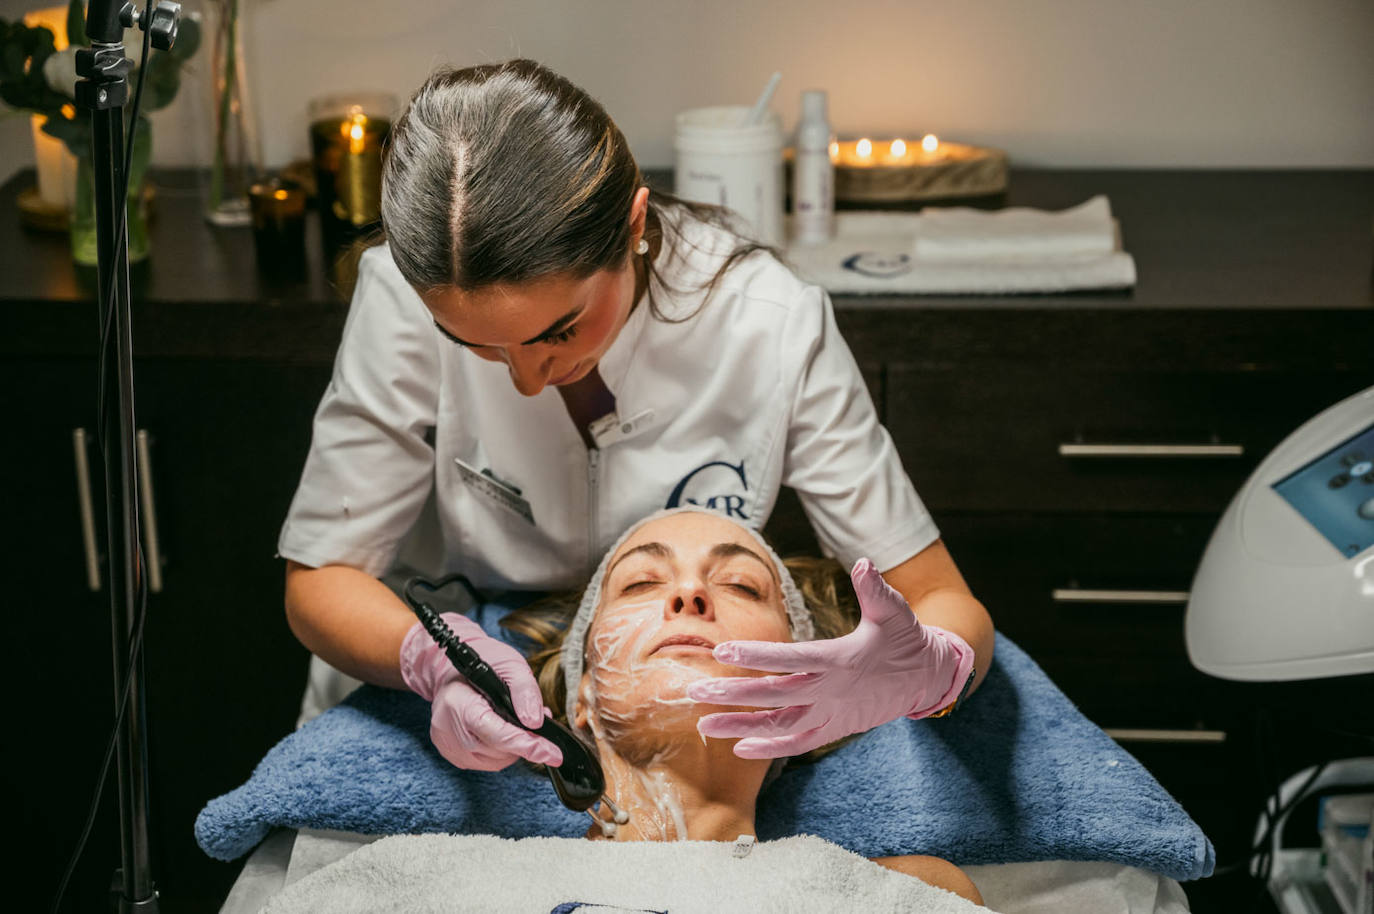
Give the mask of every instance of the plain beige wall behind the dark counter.
M 245 3 L 269 165 L 305 155 L 312 95 L 404 99 L 436 65 L 530 56 L 646 166 L 672 165 L 675 111 L 749 103 L 774 70 L 787 129 L 826 88 L 841 133 L 933 131 L 1024 165 L 1374 166 L 1374 0 Z M 158 113 L 158 162 L 205 161 L 202 88 Z M 26 129 L 0 122 L 0 177 L 29 164 Z

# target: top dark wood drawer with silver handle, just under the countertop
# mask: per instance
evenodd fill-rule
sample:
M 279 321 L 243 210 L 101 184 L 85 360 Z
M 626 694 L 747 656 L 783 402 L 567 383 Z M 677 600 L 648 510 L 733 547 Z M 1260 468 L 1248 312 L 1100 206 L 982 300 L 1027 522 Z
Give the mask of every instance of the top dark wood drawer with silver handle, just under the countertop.
M 886 425 L 932 510 L 1220 513 L 1352 372 L 996 375 L 894 364 Z

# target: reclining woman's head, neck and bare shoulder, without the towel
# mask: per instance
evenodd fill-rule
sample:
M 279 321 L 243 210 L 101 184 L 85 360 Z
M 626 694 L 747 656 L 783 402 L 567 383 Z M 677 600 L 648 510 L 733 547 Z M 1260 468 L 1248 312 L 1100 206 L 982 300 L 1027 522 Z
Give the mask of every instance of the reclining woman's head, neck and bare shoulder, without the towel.
M 587 837 L 734 841 L 754 833 L 754 801 L 778 763 L 741 759 L 734 739 L 701 737 L 703 715 L 741 709 L 692 701 L 687 684 L 764 675 L 717 661 L 712 649 L 720 642 L 830 638 L 853 627 L 834 594 L 808 590 L 816 591 L 809 605 L 771 548 L 713 511 L 662 511 L 621 539 L 566 638 L 530 661 L 545 704 L 594 741 L 607 794 L 629 814 L 617 827 L 603 810 Z M 576 701 L 566 700 L 565 683 L 577 684 Z M 981 903 L 947 860 L 877 862 Z

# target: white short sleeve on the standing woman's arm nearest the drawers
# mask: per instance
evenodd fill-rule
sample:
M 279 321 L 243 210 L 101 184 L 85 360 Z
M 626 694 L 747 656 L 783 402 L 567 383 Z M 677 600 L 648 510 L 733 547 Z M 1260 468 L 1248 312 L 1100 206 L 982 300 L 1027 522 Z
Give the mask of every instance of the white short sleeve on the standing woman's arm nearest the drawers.
M 822 548 L 846 568 L 867 557 L 886 572 L 938 539 L 823 287 L 805 287 L 779 357 L 797 367 L 782 482 Z

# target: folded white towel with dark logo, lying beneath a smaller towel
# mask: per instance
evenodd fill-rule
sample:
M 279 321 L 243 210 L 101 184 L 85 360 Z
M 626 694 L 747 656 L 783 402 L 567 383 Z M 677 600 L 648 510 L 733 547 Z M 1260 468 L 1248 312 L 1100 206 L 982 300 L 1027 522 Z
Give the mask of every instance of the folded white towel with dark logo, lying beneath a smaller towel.
M 1101 253 L 929 260 L 912 253 L 923 219 L 845 210 L 835 213 L 829 242 L 794 243 L 783 253 L 797 275 L 833 294 L 1006 296 L 1135 286 L 1135 260 L 1121 250 L 1116 232 Z

